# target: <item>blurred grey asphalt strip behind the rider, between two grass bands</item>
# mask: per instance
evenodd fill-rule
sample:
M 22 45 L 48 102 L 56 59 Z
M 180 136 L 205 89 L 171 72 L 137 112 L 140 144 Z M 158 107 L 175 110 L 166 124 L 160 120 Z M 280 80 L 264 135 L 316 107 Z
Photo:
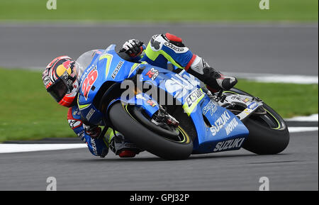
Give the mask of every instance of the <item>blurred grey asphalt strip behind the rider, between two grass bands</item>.
M 0 67 L 43 69 L 60 55 L 166 32 L 224 72 L 318 76 L 318 24 L 0 23 Z

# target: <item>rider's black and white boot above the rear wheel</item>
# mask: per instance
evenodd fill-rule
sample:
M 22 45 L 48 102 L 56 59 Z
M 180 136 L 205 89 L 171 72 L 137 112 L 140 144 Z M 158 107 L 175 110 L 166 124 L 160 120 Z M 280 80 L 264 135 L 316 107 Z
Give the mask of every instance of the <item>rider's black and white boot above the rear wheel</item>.
M 194 55 L 193 62 L 188 70 L 189 74 L 200 79 L 211 92 L 218 92 L 220 89 L 229 90 L 235 86 L 237 79 L 229 77 L 210 67 L 203 58 Z

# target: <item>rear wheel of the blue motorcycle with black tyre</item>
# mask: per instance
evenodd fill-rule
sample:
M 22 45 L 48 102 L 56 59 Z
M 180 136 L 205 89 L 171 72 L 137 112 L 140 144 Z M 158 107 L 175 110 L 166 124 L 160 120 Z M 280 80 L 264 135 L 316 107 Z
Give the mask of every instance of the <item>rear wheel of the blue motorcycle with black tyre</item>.
M 240 89 L 230 89 L 225 93 L 252 96 Z M 259 155 L 281 153 L 289 144 L 289 131 L 281 116 L 267 104 L 263 105 L 264 115 L 252 115 L 243 123 L 250 131 L 242 148 Z

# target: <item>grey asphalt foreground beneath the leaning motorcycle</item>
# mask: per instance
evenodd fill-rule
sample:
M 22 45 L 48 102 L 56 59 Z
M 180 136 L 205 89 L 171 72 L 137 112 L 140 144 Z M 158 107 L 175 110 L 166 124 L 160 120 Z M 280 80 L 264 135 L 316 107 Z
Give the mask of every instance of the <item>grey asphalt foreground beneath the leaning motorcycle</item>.
M 45 190 L 51 176 L 57 190 L 258 190 L 264 176 L 270 190 L 318 190 L 318 131 L 291 133 L 279 155 L 241 149 L 181 161 L 146 152 L 102 159 L 83 148 L 0 154 L 0 165 L 0 190 Z

